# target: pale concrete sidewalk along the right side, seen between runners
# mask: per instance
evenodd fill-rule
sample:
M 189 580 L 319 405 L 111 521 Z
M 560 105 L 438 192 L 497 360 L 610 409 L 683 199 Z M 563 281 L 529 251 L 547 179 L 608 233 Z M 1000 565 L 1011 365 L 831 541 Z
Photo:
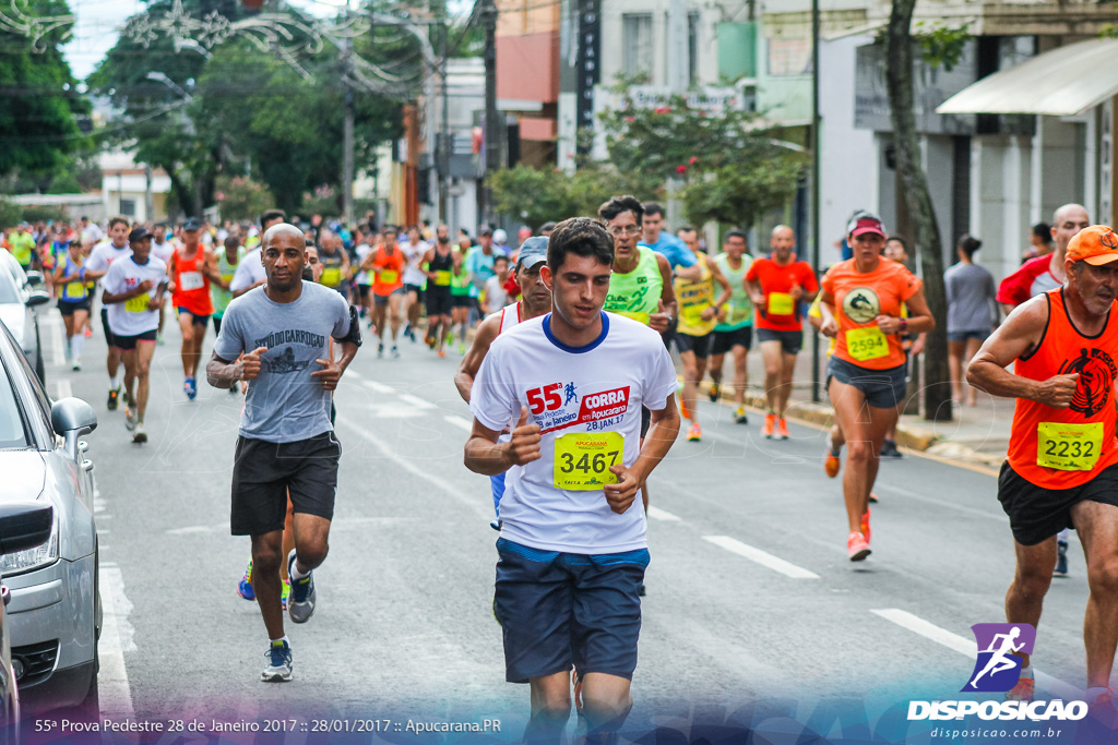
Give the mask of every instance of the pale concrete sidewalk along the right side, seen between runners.
M 826 343 L 819 337 L 819 403 L 812 402 L 812 346 L 811 334 L 805 334 L 804 350 L 796 363 L 796 374 L 793 379 L 792 402 L 788 414 L 821 426 L 832 423 L 832 410 L 827 401 L 824 383 L 826 381 Z M 760 352 L 755 346 L 749 352 L 749 388 L 746 402 L 755 409 L 765 410 L 765 365 Z M 722 398 L 733 399 L 733 362 L 726 355 L 722 374 Z M 710 390 L 710 374 L 702 385 L 703 392 Z M 921 399 L 922 408 L 923 401 Z M 951 409 L 953 421 L 935 422 L 926 420 L 922 414 L 906 414 L 897 427 L 897 441 L 903 448 L 920 450 L 931 455 L 956 460 L 967 460 L 997 468 L 1005 460 L 1010 443 L 1010 428 L 1013 422 L 1013 399 L 998 399 L 978 392 L 977 405 L 955 404 Z

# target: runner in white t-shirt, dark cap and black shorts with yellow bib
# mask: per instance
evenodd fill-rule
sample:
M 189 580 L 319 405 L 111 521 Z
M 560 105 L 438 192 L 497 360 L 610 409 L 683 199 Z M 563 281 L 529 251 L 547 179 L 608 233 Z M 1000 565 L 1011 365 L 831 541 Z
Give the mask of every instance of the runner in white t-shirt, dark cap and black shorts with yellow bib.
M 140 443 L 148 441 L 143 428 L 148 373 L 169 279 L 167 265 L 151 256 L 151 233 L 145 228 L 129 233 L 129 246 L 132 256 L 114 261 L 101 285 L 113 342 L 124 361 L 124 426 L 132 432 L 132 441 Z

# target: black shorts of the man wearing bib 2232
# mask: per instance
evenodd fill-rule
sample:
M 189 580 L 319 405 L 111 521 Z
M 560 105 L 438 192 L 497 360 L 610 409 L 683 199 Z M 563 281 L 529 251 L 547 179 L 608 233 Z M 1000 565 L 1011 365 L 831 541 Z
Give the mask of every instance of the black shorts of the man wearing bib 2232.
M 1065 527 L 1076 527 L 1071 508 L 1080 502 L 1118 507 L 1118 464 L 1103 468 L 1087 484 L 1045 489 L 1018 476 L 1006 460 L 997 477 L 997 500 L 1010 516 L 1013 538 L 1023 546 L 1035 546 Z

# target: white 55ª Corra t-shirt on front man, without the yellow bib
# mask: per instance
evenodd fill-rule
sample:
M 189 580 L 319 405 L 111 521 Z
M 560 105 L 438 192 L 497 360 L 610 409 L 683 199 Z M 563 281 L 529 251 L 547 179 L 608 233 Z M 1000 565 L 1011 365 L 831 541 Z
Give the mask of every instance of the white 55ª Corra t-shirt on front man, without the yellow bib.
M 550 334 L 551 314 L 530 318 L 494 340 L 474 381 L 470 410 L 502 430 L 529 408 L 543 436 L 541 458 L 505 475 L 501 536 L 541 551 L 607 554 L 647 547 L 641 497 L 622 515 L 601 489 L 558 489 L 556 440 L 576 432 L 617 432 L 622 462 L 641 451 L 641 407 L 659 411 L 678 386 L 660 334 L 636 321 L 603 313 L 603 332 L 584 347 Z

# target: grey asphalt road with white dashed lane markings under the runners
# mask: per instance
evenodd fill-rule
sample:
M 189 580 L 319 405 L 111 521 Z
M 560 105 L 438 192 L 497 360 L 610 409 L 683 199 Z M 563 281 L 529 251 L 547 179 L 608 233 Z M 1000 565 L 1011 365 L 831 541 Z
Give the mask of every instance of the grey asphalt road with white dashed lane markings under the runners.
M 48 391 L 86 399 L 101 422 L 88 441 L 101 493 L 104 716 L 387 719 L 378 737 L 398 742 L 407 738 L 391 727 L 409 718 L 500 719 L 501 737 L 519 736 L 528 689 L 504 682 L 492 502 L 487 479 L 462 465 L 470 413 L 452 383 L 455 353 L 439 360 L 404 341 L 400 359 L 379 360 L 367 343 L 344 376 L 319 605 L 310 623 L 288 624 L 295 680 L 268 685 L 258 681 L 259 613 L 236 593 L 248 539 L 228 531 L 239 395 L 202 382 L 187 400 L 169 324 L 152 370 L 150 443 L 133 446 L 123 411 L 105 407 L 100 324 L 76 373 L 59 364 L 59 332 L 51 314 Z M 207 357 L 211 345 L 212 329 Z M 1004 620 L 1013 572 L 995 477 L 916 456 L 884 462 L 874 553 L 851 564 L 821 431 L 793 422 L 792 439 L 774 442 L 759 438 L 760 416 L 737 426 L 723 404 L 703 400 L 700 411 L 703 441 L 681 429 L 651 480 L 653 561 L 626 732 L 787 734 L 807 723 L 856 735 L 885 727 L 882 714 L 912 698 L 960 697 L 969 627 Z M 1086 598 L 1077 542 L 1033 658 L 1053 696 L 1084 679 Z M 896 726 L 903 739 L 907 723 Z

